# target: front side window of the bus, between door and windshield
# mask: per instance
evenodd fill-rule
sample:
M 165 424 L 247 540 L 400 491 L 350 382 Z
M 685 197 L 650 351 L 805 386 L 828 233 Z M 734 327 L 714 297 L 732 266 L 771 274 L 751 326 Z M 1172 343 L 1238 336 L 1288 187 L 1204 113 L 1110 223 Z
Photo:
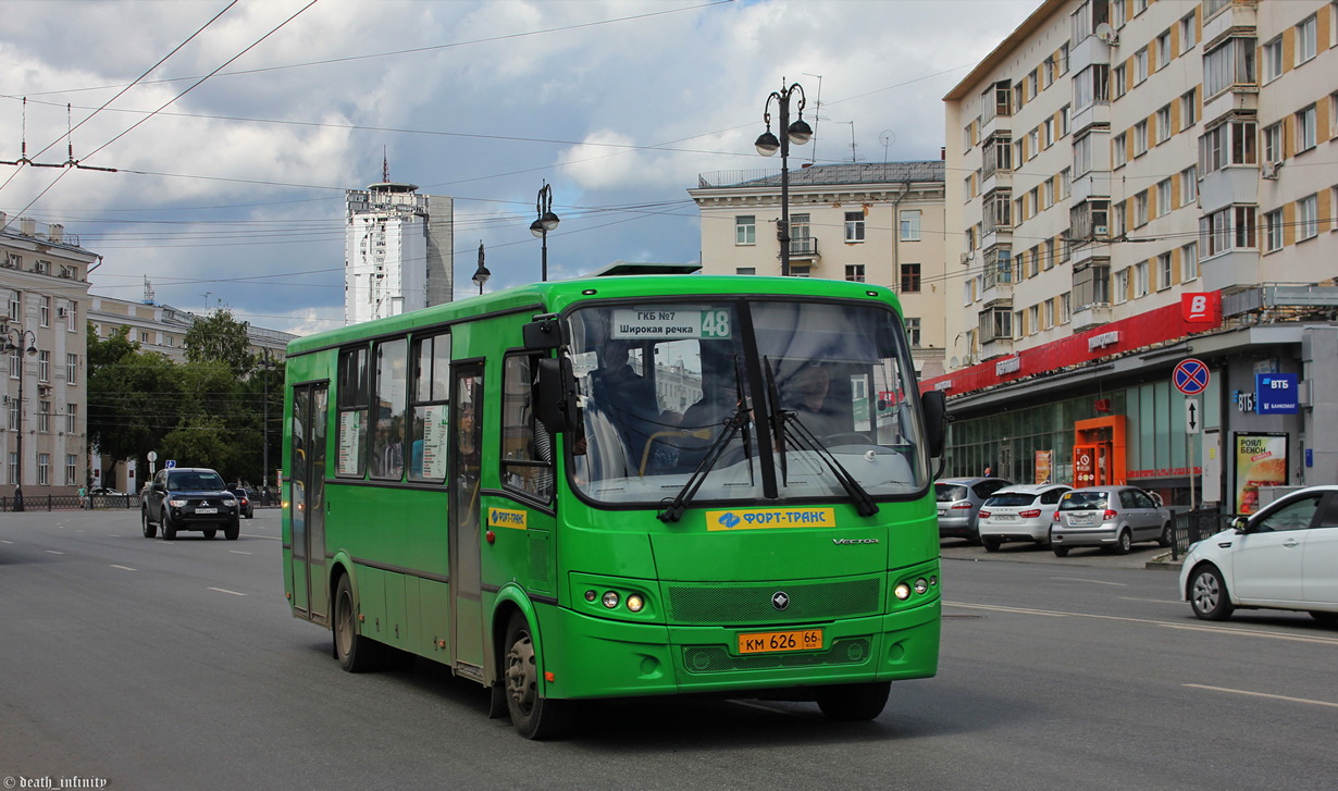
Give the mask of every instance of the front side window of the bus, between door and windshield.
M 502 486 L 549 502 L 553 438 L 535 419 L 533 355 L 511 355 L 502 372 Z

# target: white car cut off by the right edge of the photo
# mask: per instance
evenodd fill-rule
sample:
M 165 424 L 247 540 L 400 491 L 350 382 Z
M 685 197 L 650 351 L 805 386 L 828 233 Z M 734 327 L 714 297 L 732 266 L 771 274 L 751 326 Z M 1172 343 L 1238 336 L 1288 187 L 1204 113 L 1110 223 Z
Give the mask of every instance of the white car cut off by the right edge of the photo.
M 1272 608 L 1338 625 L 1338 486 L 1293 491 L 1193 543 L 1180 567 L 1180 596 L 1208 621 Z

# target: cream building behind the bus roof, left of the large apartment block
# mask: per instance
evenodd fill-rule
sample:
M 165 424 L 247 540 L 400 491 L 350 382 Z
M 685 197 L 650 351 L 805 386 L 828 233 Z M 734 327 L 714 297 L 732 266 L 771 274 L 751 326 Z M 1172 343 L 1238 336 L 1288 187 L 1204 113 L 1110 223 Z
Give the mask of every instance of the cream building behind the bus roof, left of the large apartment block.
M 705 274 L 780 274 L 780 174 L 705 173 Z M 943 162 L 850 162 L 789 173 L 789 272 L 875 282 L 898 293 L 922 375 L 943 372 Z

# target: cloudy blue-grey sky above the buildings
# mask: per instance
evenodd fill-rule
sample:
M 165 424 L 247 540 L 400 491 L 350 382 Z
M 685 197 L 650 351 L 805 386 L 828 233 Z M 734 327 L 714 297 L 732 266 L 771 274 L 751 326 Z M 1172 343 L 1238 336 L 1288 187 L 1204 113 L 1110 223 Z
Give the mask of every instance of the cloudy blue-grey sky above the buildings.
M 344 193 L 384 162 L 455 198 L 458 297 L 480 242 L 488 290 L 539 278 L 545 183 L 550 280 L 698 261 L 686 190 L 779 171 L 772 91 L 816 131 L 791 167 L 937 159 L 942 96 L 1038 4 L 5 0 L 0 159 L 90 169 L 0 166 L 0 211 L 102 256 L 94 294 L 298 335 L 344 325 Z

